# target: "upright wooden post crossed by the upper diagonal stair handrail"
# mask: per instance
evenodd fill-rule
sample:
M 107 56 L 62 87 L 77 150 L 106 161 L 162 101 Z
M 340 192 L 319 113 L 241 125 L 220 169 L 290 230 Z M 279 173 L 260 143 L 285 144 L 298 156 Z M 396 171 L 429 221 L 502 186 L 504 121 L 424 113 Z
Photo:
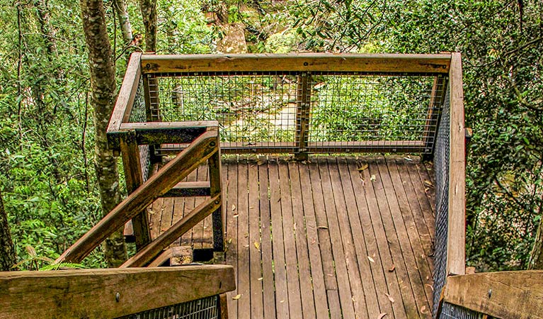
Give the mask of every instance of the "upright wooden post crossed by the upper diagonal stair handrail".
M 139 147 L 136 142 L 136 133 L 133 130 L 122 135 L 120 151 L 122 165 L 125 169 L 126 189 L 128 194 L 130 194 L 143 184 Z M 132 234 L 135 237 L 136 250 L 141 250 L 142 247 L 151 242 L 151 231 L 149 229 L 149 218 L 147 217 L 146 208 L 142 209 L 137 216 L 132 218 L 131 226 Z

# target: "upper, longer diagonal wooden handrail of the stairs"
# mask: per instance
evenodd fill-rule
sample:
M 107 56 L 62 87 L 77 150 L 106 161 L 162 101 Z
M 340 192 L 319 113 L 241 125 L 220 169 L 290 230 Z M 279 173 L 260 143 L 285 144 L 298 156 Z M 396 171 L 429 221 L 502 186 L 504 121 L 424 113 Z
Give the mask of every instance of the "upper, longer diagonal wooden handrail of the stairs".
M 157 174 L 139 186 L 98 224 L 94 225 L 88 233 L 77 240 L 72 247 L 62 253 L 57 262 L 81 262 L 81 259 L 100 245 L 106 237 L 149 206 L 156 198 L 166 194 L 166 191 L 169 191 L 213 153 L 217 152 L 217 140 L 217 130 L 200 135 L 175 159 L 168 162 Z

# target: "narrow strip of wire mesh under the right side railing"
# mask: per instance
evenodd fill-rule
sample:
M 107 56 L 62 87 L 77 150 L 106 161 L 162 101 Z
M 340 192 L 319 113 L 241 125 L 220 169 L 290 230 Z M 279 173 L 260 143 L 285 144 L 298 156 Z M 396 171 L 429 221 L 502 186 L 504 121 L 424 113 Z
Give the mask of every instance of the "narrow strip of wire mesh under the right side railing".
M 448 86 L 447 86 L 448 87 Z M 447 279 L 447 223 L 449 216 L 449 154 L 450 154 L 450 110 L 449 90 L 441 112 L 441 121 L 435 143 L 435 243 L 434 243 L 434 289 L 433 314 L 437 315 L 440 294 Z

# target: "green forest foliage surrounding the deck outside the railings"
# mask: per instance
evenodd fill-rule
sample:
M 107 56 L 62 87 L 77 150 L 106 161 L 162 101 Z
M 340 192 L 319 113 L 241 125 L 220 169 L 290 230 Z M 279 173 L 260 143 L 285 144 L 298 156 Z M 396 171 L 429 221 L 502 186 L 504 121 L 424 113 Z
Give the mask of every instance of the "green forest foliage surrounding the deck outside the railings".
M 97 57 L 88 52 L 92 26 L 86 12 L 96 4 L 105 12 L 111 49 L 103 54 L 114 62 L 117 89 L 135 51 L 462 52 L 466 125 L 473 130 L 467 262 L 478 272 L 543 267 L 542 1 L 0 4 L 0 211 L 6 213 L 20 269 L 50 264 L 115 205 L 101 201 L 97 177 L 104 162 L 115 166 L 120 159 L 101 151 L 95 130 L 108 118 L 93 108 L 91 96 Z M 95 59 L 90 64 L 89 57 Z M 120 179 L 112 177 L 110 189 L 122 197 L 118 171 Z M 112 258 L 96 250 L 84 266 L 105 267 L 115 264 Z

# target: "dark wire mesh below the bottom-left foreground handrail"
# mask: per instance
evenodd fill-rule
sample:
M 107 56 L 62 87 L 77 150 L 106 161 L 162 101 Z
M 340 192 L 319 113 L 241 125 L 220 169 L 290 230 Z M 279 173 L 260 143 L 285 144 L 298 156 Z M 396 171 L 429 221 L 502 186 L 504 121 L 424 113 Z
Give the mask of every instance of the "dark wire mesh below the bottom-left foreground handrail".
M 210 296 L 117 319 L 215 319 L 219 315 L 219 296 Z

